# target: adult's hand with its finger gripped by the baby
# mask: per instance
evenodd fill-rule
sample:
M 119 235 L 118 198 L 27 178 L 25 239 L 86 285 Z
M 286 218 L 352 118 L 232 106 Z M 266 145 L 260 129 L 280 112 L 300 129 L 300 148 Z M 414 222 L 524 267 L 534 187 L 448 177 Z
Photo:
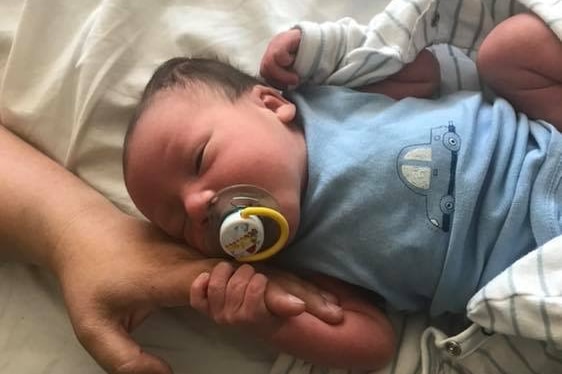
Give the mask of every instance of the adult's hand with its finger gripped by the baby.
M 86 211 L 76 217 L 56 250 L 64 254 L 56 260 L 56 273 L 79 341 L 106 371 L 168 374 L 169 365 L 143 351 L 130 332 L 158 308 L 188 306 L 195 278 L 220 260 L 203 258 L 151 224 L 122 216 L 108 221 Z M 306 303 L 328 322 L 343 318 L 313 285 L 272 273 L 267 290 L 271 313 L 296 315 Z

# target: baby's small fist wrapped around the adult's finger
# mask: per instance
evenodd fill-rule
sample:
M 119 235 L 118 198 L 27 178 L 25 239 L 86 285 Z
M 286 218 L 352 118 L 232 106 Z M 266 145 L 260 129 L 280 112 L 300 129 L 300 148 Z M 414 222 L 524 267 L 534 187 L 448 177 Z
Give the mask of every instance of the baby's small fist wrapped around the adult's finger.
M 191 285 L 191 306 L 220 325 L 249 327 L 260 336 L 270 336 L 280 318 L 266 306 L 268 279 L 250 265 L 234 268 L 217 264 L 211 273 L 200 274 Z M 304 302 L 300 312 L 304 311 Z

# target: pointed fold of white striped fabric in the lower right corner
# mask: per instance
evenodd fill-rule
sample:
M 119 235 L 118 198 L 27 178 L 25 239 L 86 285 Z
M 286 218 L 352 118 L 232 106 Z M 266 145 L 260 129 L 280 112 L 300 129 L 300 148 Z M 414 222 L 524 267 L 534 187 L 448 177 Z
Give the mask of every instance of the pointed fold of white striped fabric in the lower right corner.
M 488 330 L 562 348 L 562 237 L 523 257 L 468 304 L 468 317 Z

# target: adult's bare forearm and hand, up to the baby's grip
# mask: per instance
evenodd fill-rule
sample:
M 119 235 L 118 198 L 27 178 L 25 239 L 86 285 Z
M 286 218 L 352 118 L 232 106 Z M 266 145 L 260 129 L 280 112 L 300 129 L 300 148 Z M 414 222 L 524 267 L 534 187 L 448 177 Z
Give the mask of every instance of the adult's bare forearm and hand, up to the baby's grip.
M 108 373 L 171 373 L 129 335 L 152 311 L 186 306 L 215 263 L 130 217 L 0 126 L 0 257 L 49 268 L 76 336 Z

